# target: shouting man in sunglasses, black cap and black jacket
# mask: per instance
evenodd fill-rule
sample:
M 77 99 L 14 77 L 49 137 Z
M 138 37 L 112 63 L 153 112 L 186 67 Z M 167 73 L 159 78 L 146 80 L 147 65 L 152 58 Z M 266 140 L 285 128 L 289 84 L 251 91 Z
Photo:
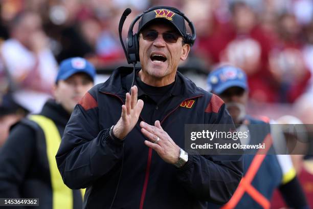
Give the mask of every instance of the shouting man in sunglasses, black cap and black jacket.
M 233 121 L 219 97 L 177 72 L 191 45 L 181 14 L 145 11 L 137 33 L 142 68 L 116 69 L 75 107 L 56 160 L 66 185 L 87 187 L 84 208 L 206 208 L 235 191 L 240 156 L 183 150 L 185 124 Z

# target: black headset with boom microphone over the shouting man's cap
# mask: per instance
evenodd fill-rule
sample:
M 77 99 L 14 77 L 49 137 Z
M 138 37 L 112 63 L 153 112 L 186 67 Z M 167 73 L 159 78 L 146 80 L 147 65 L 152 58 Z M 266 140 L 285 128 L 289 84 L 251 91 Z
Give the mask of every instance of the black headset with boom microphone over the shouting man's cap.
M 164 6 L 156 6 L 156 7 L 151 7 L 148 10 L 145 10 L 142 14 L 138 15 L 132 21 L 132 23 L 130 24 L 129 29 L 128 29 L 127 40 L 126 40 L 126 42 L 127 42 L 127 45 L 126 45 L 127 49 L 125 49 L 125 46 L 124 46 L 121 34 L 122 34 L 122 28 L 123 28 L 125 19 L 126 19 L 127 15 L 129 15 L 130 12 L 131 12 L 131 9 L 127 8 L 123 12 L 121 20 L 120 20 L 119 33 L 120 33 L 120 41 L 121 41 L 122 47 L 124 49 L 125 56 L 126 56 L 128 64 L 136 64 L 137 61 L 140 61 L 140 59 L 139 59 L 138 34 L 137 33 L 133 34 L 133 31 L 132 31 L 133 27 L 135 26 L 136 22 L 140 19 L 140 17 L 142 17 L 145 13 L 151 12 L 151 11 L 156 10 L 156 9 L 169 9 L 169 10 L 175 12 L 176 14 L 181 15 L 187 21 L 187 23 L 188 23 L 188 25 L 189 25 L 189 27 L 191 29 L 191 35 L 187 33 L 185 35 L 185 37 L 184 37 L 184 42 L 186 44 L 189 44 L 190 46 L 193 45 L 193 43 L 194 43 L 194 41 L 196 39 L 195 27 L 194 27 L 193 23 L 188 19 L 188 17 L 186 17 L 183 12 L 179 11 L 176 8 L 164 7 Z

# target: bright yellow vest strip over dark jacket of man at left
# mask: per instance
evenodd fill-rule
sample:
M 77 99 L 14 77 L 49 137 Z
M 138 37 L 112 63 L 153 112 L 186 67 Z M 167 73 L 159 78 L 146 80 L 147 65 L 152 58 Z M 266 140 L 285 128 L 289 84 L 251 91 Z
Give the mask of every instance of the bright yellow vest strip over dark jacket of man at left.
M 55 123 L 45 116 L 31 115 L 29 119 L 39 125 L 44 133 L 44 138 L 46 138 L 47 157 L 52 186 L 53 209 L 73 208 L 73 191 L 63 183 L 55 160 L 55 155 L 61 142 L 59 131 Z M 85 189 L 81 190 L 81 193 L 83 197 Z

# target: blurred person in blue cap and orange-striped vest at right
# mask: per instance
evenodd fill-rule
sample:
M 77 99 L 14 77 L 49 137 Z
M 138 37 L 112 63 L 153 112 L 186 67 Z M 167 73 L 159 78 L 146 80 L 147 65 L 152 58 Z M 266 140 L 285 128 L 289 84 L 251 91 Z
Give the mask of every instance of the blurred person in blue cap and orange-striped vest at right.
M 250 139 L 241 140 L 241 143 L 248 144 L 250 140 L 259 137 L 263 139 L 269 132 L 273 133 L 270 121 L 264 122 L 247 115 L 245 107 L 249 99 L 249 88 L 247 75 L 241 69 L 222 65 L 209 74 L 207 84 L 209 91 L 225 101 L 237 130 L 250 131 Z M 272 136 L 276 140 L 276 135 Z M 261 160 L 257 159 L 260 156 L 243 155 L 244 176 L 230 201 L 221 208 L 270 208 L 276 188 L 290 208 L 308 208 L 290 156 L 265 155 Z M 253 173 L 253 169 L 257 172 Z M 208 208 L 216 206 L 208 203 Z

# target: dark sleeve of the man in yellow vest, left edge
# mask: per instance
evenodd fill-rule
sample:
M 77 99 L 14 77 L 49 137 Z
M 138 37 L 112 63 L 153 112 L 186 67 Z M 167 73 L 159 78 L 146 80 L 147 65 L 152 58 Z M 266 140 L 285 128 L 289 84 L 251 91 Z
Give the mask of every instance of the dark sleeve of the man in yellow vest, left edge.
M 0 197 L 23 198 L 20 185 L 25 179 L 36 148 L 36 132 L 17 124 L 0 150 Z

